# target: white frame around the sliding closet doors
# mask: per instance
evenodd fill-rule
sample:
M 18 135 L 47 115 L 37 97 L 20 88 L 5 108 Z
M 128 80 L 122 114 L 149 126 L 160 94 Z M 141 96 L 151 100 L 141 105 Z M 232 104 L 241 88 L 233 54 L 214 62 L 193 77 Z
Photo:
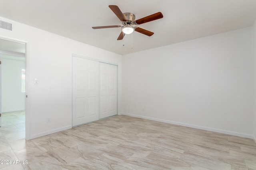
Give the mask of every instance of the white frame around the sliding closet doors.
M 118 64 L 108 62 L 108 61 L 99 60 L 99 59 L 95 59 L 95 58 L 91 58 L 91 57 L 85 57 L 85 56 L 82 56 L 82 55 L 76 55 L 76 54 L 72 53 L 72 65 L 73 65 L 73 57 L 79 57 L 79 58 L 82 58 L 82 59 L 88 59 L 88 60 L 92 60 L 92 61 L 98 61 L 100 63 L 112 64 L 112 65 L 117 66 L 117 68 L 116 68 L 117 69 L 116 70 L 116 111 L 117 111 L 117 115 L 118 115 Z M 72 72 L 73 72 L 73 66 L 72 66 Z M 72 74 L 72 80 L 73 80 L 73 74 Z M 72 82 L 72 89 L 73 89 L 73 82 Z M 71 101 L 72 101 L 71 122 L 73 122 L 73 90 L 72 90 Z M 114 115 L 114 116 L 116 116 L 116 115 Z M 106 118 L 108 118 L 108 117 L 106 117 Z M 103 118 L 103 119 L 106 119 L 106 118 Z M 98 120 L 101 120 L 100 117 L 99 117 Z M 72 125 L 72 127 L 73 127 L 73 125 Z

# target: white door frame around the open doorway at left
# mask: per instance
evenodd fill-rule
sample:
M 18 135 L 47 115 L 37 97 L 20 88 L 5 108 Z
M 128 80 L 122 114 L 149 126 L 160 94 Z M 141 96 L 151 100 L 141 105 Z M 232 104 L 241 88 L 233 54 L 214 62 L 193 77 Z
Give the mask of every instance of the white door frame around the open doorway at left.
M 25 88 L 26 88 L 26 98 L 25 98 L 25 139 L 29 140 L 30 139 L 30 110 L 29 110 L 29 100 L 28 100 L 28 75 L 29 75 L 29 67 L 28 67 L 28 49 L 29 49 L 29 42 L 24 41 L 21 39 L 16 39 L 12 37 L 6 37 L 3 35 L 0 35 L 0 39 L 4 39 L 7 41 L 15 41 L 18 43 L 24 43 L 25 44 L 25 70 L 26 70 L 26 78 L 25 78 Z M 2 89 L 1 89 L 2 90 Z M 2 93 L 1 93 L 2 94 Z

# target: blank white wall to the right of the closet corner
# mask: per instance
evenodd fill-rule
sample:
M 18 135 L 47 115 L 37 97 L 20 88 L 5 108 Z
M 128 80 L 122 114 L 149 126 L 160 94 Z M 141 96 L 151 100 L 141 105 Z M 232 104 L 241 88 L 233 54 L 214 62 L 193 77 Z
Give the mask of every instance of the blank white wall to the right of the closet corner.
M 124 55 L 123 112 L 252 138 L 252 72 L 252 27 Z

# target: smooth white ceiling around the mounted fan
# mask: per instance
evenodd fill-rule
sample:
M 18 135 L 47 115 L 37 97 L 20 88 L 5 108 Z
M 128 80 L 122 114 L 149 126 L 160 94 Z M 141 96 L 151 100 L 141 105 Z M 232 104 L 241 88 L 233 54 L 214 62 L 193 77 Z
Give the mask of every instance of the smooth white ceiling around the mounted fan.
M 256 0 L 0 0 L 0 16 L 62 35 L 120 55 L 252 26 Z M 117 5 L 136 20 L 162 12 L 164 18 L 139 25 L 138 32 L 117 41 L 122 25 L 110 10 Z

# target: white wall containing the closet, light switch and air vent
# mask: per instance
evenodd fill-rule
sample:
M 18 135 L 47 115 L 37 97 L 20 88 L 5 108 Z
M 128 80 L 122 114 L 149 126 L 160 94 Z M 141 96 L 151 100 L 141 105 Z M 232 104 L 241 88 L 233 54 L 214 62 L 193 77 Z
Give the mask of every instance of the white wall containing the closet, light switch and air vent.
M 0 37 L 27 42 L 26 139 L 71 128 L 72 54 L 118 64 L 118 111 L 122 110 L 120 55 L 6 18 L 0 20 L 13 27 L 13 31 L 0 29 Z M 34 84 L 34 78 L 39 84 Z M 47 117 L 51 123 L 46 123 Z

